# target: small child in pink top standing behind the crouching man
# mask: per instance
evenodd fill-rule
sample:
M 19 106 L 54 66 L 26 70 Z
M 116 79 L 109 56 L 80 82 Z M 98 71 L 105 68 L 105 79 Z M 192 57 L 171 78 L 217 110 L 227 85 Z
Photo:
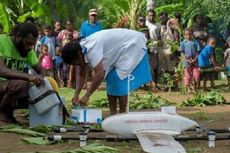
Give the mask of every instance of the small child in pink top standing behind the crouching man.
M 51 56 L 49 55 L 48 50 L 49 47 L 47 45 L 42 45 L 42 52 L 39 57 L 39 62 L 45 70 L 45 75 L 53 77 L 53 61 Z

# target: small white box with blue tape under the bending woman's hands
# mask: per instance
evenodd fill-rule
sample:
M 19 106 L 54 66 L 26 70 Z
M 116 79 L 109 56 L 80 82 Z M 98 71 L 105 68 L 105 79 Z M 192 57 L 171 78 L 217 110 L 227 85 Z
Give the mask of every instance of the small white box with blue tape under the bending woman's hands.
M 99 109 L 72 109 L 71 120 L 75 123 L 101 124 L 102 110 L 99 110 Z

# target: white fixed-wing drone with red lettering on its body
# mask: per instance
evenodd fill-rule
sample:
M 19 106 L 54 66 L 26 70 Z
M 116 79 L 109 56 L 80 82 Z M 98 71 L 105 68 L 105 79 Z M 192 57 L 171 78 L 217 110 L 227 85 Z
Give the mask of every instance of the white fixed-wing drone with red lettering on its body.
M 117 114 L 102 122 L 106 132 L 123 138 L 137 137 L 142 149 L 149 153 L 186 153 L 172 136 L 196 125 L 196 122 L 171 110 Z

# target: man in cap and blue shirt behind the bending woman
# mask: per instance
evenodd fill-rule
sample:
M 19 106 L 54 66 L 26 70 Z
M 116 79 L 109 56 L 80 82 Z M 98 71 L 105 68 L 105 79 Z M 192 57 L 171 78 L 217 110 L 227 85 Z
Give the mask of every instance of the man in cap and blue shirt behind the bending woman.
M 80 38 L 85 38 L 94 32 L 102 30 L 101 24 L 97 21 L 97 10 L 89 10 L 89 19 L 82 23 Z

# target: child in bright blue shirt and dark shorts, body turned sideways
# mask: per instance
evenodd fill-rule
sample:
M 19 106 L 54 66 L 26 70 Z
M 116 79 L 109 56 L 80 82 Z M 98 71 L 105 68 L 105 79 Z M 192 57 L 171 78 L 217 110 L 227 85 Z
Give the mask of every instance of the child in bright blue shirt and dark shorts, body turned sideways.
M 201 53 L 198 56 L 199 68 L 201 70 L 204 70 L 202 72 L 202 76 L 204 80 L 203 90 L 206 90 L 206 82 L 209 77 L 211 80 L 211 87 L 215 86 L 213 72 L 205 71 L 212 67 L 215 68 L 216 66 L 216 60 L 214 56 L 215 47 L 216 47 L 216 39 L 214 37 L 209 37 L 207 45 L 204 47 L 204 49 L 202 49 Z

